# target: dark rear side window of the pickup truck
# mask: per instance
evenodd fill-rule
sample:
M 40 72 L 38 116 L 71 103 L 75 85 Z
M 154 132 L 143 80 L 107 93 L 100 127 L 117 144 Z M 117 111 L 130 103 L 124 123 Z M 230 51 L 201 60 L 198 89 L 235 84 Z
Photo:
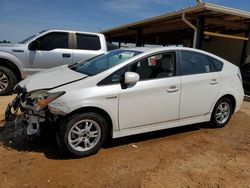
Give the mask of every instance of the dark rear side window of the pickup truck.
M 76 34 L 77 49 L 100 50 L 100 38 L 97 35 Z

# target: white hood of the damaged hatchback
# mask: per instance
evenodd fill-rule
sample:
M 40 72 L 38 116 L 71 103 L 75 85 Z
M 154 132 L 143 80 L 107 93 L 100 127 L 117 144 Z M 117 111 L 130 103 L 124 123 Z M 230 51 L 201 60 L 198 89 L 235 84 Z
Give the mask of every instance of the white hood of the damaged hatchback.
M 86 77 L 87 75 L 85 74 L 71 70 L 68 68 L 68 65 L 63 65 L 29 76 L 21 81 L 19 86 L 26 88 L 27 92 L 40 89 L 53 89 Z

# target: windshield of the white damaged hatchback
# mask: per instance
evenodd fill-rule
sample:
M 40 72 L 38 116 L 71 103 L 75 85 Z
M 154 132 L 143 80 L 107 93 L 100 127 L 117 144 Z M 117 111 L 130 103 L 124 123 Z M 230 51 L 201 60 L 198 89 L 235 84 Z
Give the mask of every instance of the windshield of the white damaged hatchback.
M 132 50 L 113 50 L 104 55 L 96 56 L 94 58 L 77 63 L 70 68 L 82 74 L 93 76 L 140 53 L 141 52 Z

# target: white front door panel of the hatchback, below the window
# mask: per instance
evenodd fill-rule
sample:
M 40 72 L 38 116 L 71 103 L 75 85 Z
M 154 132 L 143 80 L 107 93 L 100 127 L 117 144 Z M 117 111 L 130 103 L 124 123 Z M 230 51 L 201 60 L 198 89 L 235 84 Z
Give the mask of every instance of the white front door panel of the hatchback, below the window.
M 177 90 L 169 92 L 168 89 Z M 179 115 L 180 77 L 139 81 L 119 90 L 120 129 L 177 120 Z

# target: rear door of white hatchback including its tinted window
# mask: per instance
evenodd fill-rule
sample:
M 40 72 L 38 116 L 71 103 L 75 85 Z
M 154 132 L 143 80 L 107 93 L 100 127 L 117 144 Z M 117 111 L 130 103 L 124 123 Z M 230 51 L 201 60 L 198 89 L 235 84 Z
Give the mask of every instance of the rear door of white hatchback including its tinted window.
M 185 50 L 180 56 L 180 119 L 205 115 L 210 112 L 221 85 L 214 58 Z

